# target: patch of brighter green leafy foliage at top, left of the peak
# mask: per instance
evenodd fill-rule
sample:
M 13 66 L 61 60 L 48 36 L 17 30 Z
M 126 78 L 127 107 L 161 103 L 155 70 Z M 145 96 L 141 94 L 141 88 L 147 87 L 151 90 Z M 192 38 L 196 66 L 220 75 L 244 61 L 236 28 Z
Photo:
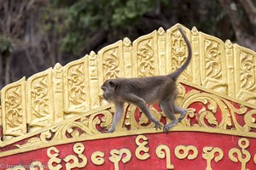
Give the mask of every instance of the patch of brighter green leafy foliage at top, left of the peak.
M 113 35 L 119 29 L 131 30 L 143 14 L 153 10 L 158 3 L 167 2 L 167 0 L 54 0 L 51 1 L 51 12 L 58 14 L 61 25 L 64 26 L 61 49 L 64 52 L 80 54 L 83 47 L 88 46 L 90 37 L 96 34 L 96 31 L 110 31 Z

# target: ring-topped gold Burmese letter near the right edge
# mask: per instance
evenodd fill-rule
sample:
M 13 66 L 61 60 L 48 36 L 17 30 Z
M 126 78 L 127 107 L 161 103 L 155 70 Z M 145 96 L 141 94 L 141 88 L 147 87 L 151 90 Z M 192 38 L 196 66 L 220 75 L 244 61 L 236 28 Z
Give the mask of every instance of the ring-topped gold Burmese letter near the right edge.
M 251 159 L 251 154 L 246 149 L 249 146 L 250 142 L 246 138 L 241 138 L 238 140 L 238 145 L 241 148 L 241 150 L 238 150 L 236 148 L 232 148 L 229 151 L 229 157 L 231 161 L 234 162 L 241 162 L 241 170 L 246 170 L 247 162 Z M 236 157 L 237 156 L 237 157 Z

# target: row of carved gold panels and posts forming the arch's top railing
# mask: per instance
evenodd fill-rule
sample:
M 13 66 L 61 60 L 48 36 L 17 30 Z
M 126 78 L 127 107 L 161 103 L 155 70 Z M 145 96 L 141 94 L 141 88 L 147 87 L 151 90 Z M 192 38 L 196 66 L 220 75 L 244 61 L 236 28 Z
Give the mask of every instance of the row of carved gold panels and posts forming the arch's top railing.
M 106 105 L 100 86 L 108 78 L 165 75 L 187 57 L 176 26 L 137 38 L 127 37 L 65 66 L 39 72 L 1 91 L 3 139 L 8 140 Z M 183 27 L 193 48 L 180 81 L 256 108 L 256 53 Z M 28 126 L 27 126 L 28 125 Z

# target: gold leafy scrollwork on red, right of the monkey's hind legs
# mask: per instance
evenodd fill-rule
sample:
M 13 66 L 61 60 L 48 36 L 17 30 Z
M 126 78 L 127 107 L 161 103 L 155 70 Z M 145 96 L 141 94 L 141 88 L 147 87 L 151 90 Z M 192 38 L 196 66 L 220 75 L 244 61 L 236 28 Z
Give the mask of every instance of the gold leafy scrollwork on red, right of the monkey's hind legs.
M 201 110 L 195 113 L 195 109 L 189 108 L 189 105 L 201 102 Z M 183 108 L 189 108 L 186 118 L 183 123 L 189 127 L 209 127 L 219 129 L 230 129 L 230 127 L 242 131 L 251 131 L 250 127 L 254 127 L 253 115 L 255 111 L 248 111 L 247 107 L 240 105 L 240 108 L 236 108 L 228 100 L 219 98 L 213 94 L 201 93 L 196 90 L 191 90 L 185 95 L 183 100 Z M 217 112 L 218 111 L 218 112 Z M 220 114 L 220 119 L 217 119 L 216 114 Z M 245 124 L 241 126 L 238 123 L 237 115 L 245 116 Z M 192 125 L 190 122 L 192 119 L 196 122 Z

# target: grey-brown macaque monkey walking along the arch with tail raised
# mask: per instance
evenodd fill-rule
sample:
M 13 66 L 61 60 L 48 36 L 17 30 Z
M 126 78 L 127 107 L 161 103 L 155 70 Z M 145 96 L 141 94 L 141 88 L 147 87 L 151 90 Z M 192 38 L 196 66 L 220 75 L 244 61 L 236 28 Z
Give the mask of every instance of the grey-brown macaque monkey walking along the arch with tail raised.
M 192 50 L 188 38 L 182 28 L 178 28 L 189 50 L 188 58 L 176 71 L 166 76 L 156 77 L 137 77 L 137 78 L 116 78 L 108 79 L 102 84 L 103 98 L 108 102 L 113 102 L 116 111 L 113 116 L 113 124 L 107 133 L 113 133 L 124 112 L 124 103 L 128 102 L 143 111 L 155 128 L 161 128 L 154 116 L 150 113 L 147 104 L 159 102 L 160 109 L 164 111 L 168 119 L 172 122 L 163 127 L 164 132 L 168 133 L 171 127 L 181 122 L 186 115 L 186 110 L 174 104 L 177 97 L 176 81 L 177 77 L 187 68 L 192 56 Z M 174 113 L 180 113 L 178 120 Z

